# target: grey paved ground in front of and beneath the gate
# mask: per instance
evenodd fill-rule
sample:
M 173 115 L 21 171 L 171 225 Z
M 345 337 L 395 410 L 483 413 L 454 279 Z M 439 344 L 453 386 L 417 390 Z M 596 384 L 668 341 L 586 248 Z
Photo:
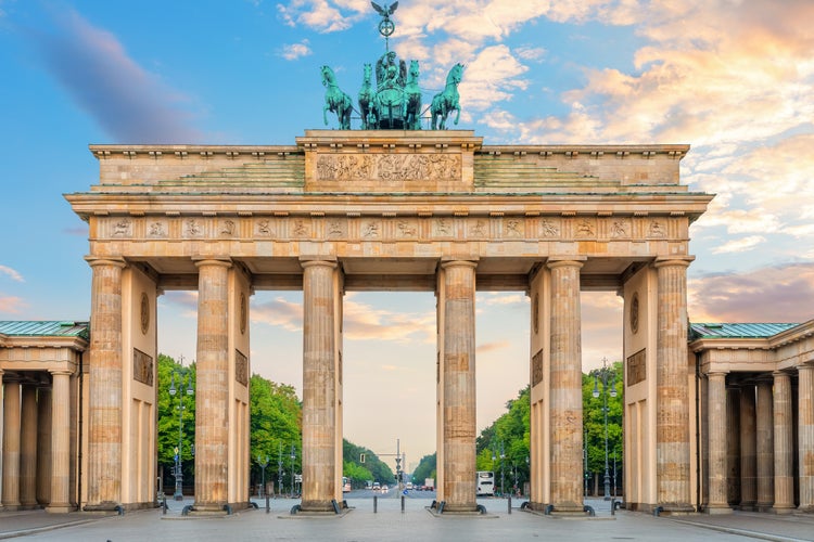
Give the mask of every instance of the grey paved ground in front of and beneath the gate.
M 124 516 L 88 514 L 50 515 L 42 511 L 0 513 L 0 538 L 60 541 L 143 541 L 143 540 L 308 540 L 308 541 L 498 541 L 498 540 L 814 540 L 814 517 L 736 513 L 726 516 L 692 515 L 682 518 L 653 517 L 619 511 L 610 514 L 609 503 L 589 500 L 597 516 L 564 519 L 521 512 L 522 501 L 512 501 L 511 514 L 505 499 L 481 499 L 485 516 L 436 517 L 425 506 L 425 495 L 410 494 L 402 500 L 395 491 L 373 499 L 348 494 L 347 514 L 336 517 L 291 516 L 298 500 L 255 499 L 259 509 L 243 511 L 218 518 L 189 518 L 181 515 L 185 502 L 169 501 L 167 514 L 161 509 L 130 512 Z

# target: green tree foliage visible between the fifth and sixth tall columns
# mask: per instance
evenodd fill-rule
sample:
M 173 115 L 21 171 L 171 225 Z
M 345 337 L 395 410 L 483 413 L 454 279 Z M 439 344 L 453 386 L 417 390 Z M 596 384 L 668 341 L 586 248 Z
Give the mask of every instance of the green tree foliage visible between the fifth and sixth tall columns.
M 599 370 L 601 371 L 601 370 Z M 623 399 L 623 369 L 618 361 L 608 367 L 608 386 L 603 385 L 599 371 L 582 376 L 583 398 L 583 430 L 587 435 L 588 473 L 605 475 L 605 400 L 608 400 L 608 462 L 610 476 L 613 477 L 613 454 L 616 454 L 618 470 L 622 468 L 624 442 L 622 438 L 622 405 Z M 598 378 L 595 378 L 595 375 Z M 611 397 L 611 390 L 616 390 L 616 397 Z M 599 397 L 594 397 L 594 389 Z M 606 396 L 607 393 L 607 396 Z M 621 476 L 621 475 L 620 475 Z

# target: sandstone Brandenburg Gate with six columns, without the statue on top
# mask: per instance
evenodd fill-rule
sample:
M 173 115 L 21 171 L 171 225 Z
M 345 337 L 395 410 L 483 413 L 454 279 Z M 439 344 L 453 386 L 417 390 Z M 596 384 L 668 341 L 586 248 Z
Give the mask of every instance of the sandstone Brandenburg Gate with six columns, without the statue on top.
M 688 145 L 486 145 L 307 130 L 292 145 L 91 145 L 85 509 L 153 506 L 156 298 L 198 291 L 195 503 L 249 504 L 250 298 L 302 289 L 303 513 L 342 502 L 342 298 L 437 299 L 437 501 L 475 502 L 475 292 L 531 298 L 531 506 L 583 513 L 580 296 L 624 298 L 626 501 L 694 509 Z M 629 443 L 636 444 L 631 448 Z

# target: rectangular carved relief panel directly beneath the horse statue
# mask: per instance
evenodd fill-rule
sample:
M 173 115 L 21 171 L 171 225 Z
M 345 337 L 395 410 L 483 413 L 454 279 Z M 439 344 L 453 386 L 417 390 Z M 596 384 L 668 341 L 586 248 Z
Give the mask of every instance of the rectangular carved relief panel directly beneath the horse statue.
M 320 181 L 454 181 L 461 177 L 459 154 L 322 154 Z

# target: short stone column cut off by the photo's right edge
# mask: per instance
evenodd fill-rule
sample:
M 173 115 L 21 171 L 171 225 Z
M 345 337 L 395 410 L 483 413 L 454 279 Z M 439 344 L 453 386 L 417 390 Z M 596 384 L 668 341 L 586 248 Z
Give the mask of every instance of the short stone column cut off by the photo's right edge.
M 797 367 L 801 512 L 814 512 L 814 365 Z

